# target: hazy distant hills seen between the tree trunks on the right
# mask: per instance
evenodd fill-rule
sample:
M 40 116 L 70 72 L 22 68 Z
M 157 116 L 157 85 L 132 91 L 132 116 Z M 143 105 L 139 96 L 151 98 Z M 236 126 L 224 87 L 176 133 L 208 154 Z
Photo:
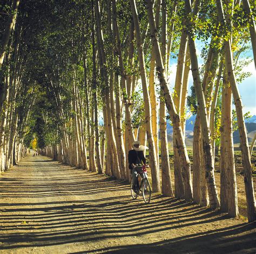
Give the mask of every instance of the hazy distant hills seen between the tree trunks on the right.
M 186 120 L 186 145 L 192 146 L 193 144 L 193 129 L 194 129 L 194 121 L 196 120 L 196 116 L 191 116 Z M 245 121 L 245 126 L 247 129 L 248 142 L 251 143 L 256 132 L 256 116 L 252 116 L 251 118 Z M 167 137 L 169 142 L 172 142 L 172 126 L 170 121 L 167 122 Z M 239 132 L 238 130 L 233 133 L 234 144 L 240 143 Z

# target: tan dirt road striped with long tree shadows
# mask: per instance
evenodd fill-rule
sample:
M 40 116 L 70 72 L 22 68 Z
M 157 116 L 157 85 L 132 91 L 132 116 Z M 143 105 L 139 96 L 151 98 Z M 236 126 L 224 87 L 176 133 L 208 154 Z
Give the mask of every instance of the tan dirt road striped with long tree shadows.
M 31 153 L 0 176 L 0 253 L 255 253 L 256 224 Z

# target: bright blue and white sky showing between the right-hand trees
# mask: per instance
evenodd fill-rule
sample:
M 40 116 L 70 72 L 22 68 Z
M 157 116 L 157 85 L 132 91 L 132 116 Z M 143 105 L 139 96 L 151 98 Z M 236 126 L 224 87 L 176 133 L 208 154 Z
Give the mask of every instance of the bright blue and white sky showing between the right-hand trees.
M 198 64 L 199 67 L 203 65 L 203 60 L 200 58 L 200 52 L 201 52 L 201 45 L 197 41 L 197 54 L 198 54 Z M 248 56 L 252 58 L 252 52 L 248 53 Z M 177 68 L 177 59 L 171 59 L 170 61 L 170 76 L 169 81 L 170 82 L 170 90 L 172 91 L 174 87 L 174 81 L 176 76 L 176 68 Z M 250 111 L 251 115 L 256 115 L 256 73 L 254 68 L 254 61 L 250 63 L 250 65 L 244 67 L 244 70 L 246 72 L 251 72 L 252 75 L 250 77 L 246 77 L 244 81 L 242 81 L 240 84 L 238 84 L 239 93 L 241 95 L 242 104 L 244 105 L 243 112 Z M 190 79 L 188 83 L 188 94 L 191 93 L 191 86 L 193 85 L 193 78 L 192 73 L 190 72 Z M 234 105 L 233 105 L 234 108 Z

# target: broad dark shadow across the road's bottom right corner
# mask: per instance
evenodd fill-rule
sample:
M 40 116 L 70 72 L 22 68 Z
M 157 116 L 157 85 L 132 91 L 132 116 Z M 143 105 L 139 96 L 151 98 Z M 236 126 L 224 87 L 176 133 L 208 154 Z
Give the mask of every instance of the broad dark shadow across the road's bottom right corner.
M 91 249 L 86 250 L 86 253 L 255 253 L 256 246 L 254 240 L 256 233 L 255 231 L 252 232 L 255 226 L 255 223 L 244 223 L 226 229 L 191 234 L 151 244 Z M 243 236 L 235 236 L 245 232 L 247 234 Z M 85 252 L 72 253 L 80 254 Z

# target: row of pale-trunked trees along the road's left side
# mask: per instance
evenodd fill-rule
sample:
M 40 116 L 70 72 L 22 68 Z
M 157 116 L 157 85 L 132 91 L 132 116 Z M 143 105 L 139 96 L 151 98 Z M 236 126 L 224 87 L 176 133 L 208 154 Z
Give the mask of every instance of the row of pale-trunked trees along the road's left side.
M 35 101 L 35 89 L 24 86 L 28 34 L 24 27 L 17 27 L 16 17 L 19 1 L 10 5 L 1 3 L 0 45 L 0 168 L 1 171 L 15 165 L 26 152 L 24 133 L 31 105 Z M 16 27 L 16 29 L 15 29 Z M 23 45 L 23 47 L 21 47 Z

